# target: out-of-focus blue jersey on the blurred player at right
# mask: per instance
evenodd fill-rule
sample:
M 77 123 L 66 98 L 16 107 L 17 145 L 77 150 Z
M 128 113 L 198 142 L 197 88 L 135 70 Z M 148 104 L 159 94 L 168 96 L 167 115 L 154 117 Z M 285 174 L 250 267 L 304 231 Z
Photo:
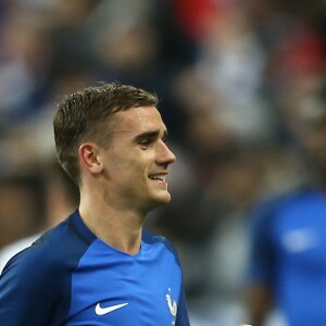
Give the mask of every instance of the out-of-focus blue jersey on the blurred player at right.
M 287 326 L 325 326 L 326 195 L 301 189 L 254 215 L 251 283 L 273 289 Z

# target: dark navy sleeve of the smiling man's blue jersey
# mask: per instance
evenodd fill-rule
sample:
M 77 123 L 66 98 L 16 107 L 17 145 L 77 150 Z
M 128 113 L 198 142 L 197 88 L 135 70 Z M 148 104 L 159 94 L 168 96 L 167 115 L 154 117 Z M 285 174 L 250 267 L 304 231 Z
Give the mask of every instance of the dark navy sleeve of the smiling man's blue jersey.
M 60 229 L 62 237 L 54 242 L 47 235 L 40 237 L 4 266 L 0 276 L 0 325 L 63 325 L 71 302 L 70 271 L 76 266 L 80 251 L 76 241 L 65 240 L 67 229 Z

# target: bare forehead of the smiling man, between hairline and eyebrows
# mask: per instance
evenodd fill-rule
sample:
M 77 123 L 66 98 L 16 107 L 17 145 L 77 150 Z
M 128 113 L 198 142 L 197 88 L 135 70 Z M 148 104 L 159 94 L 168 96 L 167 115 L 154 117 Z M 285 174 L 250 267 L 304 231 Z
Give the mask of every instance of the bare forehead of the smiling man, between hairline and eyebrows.
M 120 111 L 114 116 L 113 131 L 146 131 L 151 129 L 164 129 L 165 125 L 156 108 L 137 106 L 126 111 Z

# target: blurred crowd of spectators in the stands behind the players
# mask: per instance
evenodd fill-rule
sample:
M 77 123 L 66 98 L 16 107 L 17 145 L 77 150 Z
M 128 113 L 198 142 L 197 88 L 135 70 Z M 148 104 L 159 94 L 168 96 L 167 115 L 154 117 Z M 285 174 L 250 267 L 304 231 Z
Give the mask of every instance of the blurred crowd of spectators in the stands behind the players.
M 148 227 L 178 249 L 192 325 L 239 324 L 250 211 L 305 177 L 293 129 L 325 83 L 325 46 L 322 0 L 0 0 L 0 248 L 76 206 L 55 102 L 143 87 L 178 159 Z

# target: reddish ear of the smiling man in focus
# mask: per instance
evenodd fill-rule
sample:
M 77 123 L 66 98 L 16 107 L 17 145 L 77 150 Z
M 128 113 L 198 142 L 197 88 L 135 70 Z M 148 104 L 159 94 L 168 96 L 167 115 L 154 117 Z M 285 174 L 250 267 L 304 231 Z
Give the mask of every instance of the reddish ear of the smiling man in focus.
M 103 165 L 99 155 L 99 149 L 95 143 L 82 143 L 78 150 L 82 166 L 87 168 L 91 174 L 99 174 Z

